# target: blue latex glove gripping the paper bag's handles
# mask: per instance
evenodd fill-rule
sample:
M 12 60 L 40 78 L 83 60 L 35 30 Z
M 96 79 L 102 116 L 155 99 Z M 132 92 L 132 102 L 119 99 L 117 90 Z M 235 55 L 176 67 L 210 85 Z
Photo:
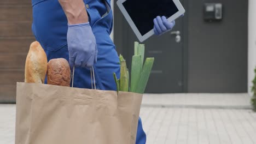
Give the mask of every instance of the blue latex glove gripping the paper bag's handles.
M 97 44 L 89 22 L 68 25 L 67 44 L 71 69 L 90 68 L 97 62 Z

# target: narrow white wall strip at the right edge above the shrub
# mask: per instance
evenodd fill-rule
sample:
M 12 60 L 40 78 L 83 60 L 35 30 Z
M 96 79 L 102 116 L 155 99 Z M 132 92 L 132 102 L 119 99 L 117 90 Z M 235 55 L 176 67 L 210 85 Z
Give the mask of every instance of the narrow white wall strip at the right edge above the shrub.
M 248 5 L 248 92 L 251 93 L 256 67 L 256 1 L 249 0 Z

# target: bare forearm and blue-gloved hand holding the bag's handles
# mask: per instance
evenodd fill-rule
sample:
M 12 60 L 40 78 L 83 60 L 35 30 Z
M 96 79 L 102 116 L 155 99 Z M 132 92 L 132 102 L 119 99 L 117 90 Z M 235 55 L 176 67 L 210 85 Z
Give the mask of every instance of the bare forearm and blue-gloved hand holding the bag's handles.
M 97 45 L 83 0 L 59 0 L 68 20 L 69 65 L 90 68 L 97 62 Z

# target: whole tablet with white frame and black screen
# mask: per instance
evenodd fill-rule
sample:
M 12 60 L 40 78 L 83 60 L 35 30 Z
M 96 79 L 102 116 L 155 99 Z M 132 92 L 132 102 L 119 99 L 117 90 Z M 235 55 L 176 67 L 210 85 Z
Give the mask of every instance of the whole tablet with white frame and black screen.
M 154 34 L 156 16 L 173 21 L 185 13 L 179 0 L 119 0 L 117 5 L 141 42 Z

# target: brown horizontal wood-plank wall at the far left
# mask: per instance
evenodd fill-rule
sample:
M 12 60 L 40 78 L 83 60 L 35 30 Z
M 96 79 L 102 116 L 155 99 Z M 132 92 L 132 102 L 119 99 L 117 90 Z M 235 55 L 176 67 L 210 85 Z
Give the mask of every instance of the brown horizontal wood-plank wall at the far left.
M 14 102 L 16 82 L 24 81 L 30 43 L 31 0 L 0 1 L 0 102 Z

